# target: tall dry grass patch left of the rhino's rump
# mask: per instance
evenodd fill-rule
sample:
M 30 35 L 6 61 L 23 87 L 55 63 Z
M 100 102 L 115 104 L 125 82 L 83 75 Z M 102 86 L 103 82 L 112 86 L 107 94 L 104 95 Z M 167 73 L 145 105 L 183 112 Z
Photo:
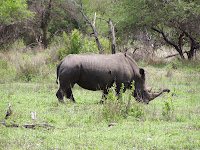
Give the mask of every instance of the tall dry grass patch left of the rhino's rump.
M 51 49 L 0 52 L 0 83 L 54 81 L 58 63 L 55 53 Z

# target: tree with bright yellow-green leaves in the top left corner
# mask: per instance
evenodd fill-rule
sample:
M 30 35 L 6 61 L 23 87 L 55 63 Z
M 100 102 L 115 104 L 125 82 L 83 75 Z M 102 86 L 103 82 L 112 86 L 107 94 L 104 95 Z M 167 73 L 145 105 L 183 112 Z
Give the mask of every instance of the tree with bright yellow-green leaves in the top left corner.
M 0 47 L 19 36 L 17 26 L 33 17 L 27 10 L 25 0 L 2 0 L 0 2 Z

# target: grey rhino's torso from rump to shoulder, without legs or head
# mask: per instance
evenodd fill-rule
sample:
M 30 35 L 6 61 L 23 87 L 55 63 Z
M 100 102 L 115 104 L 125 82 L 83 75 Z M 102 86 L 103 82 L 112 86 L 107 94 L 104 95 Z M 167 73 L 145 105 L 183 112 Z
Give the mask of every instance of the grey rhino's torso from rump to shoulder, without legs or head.
M 102 90 L 114 82 L 130 82 L 133 70 L 123 54 L 68 55 L 60 66 L 60 82 L 77 83 L 88 90 Z

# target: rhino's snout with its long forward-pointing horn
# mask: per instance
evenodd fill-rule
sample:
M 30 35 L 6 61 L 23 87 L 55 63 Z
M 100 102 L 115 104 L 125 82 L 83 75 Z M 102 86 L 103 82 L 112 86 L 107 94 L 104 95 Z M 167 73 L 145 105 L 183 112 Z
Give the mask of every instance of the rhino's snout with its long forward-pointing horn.
M 141 90 L 141 89 L 138 90 L 138 89 L 136 89 L 134 91 L 134 97 L 135 97 L 135 100 L 138 101 L 138 102 L 149 104 L 150 101 L 152 101 L 156 97 L 160 96 L 164 92 L 169 93 L 170 90 L 169 89 L 164 89 L 164 90 L 161 90 L 160 92 L 150 93 L 147 90 Z

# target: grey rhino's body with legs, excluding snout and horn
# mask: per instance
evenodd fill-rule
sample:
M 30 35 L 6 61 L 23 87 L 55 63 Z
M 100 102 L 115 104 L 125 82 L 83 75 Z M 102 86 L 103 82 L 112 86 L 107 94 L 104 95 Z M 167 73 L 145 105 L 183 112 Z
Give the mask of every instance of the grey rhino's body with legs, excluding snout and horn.
M 118 54 L 70 54 L 57 67 L 57 79 L 60 88 L 57 98 L 63 101 L 63 95 L 75 102 L 72 94 L 74 84 L 88 90 L 103 90 L 103 97 L 108 89 L 116 82 L 116 92 L 119 93 L 122 83 L 126 88 L 135 81 L 134 97 L 144 98 L 141 93 L 146 92 L 145 73 L 128 55 Z M 138 92 L 140 94 L 137 94 Z M 148 92 L 142 95 L 148 95 Z M 138 98 L 136 98 L 137 100 Z M 148 101 L 148 100 L 147 100 Z M 145 102 L 148 103 L 148 102 Z

